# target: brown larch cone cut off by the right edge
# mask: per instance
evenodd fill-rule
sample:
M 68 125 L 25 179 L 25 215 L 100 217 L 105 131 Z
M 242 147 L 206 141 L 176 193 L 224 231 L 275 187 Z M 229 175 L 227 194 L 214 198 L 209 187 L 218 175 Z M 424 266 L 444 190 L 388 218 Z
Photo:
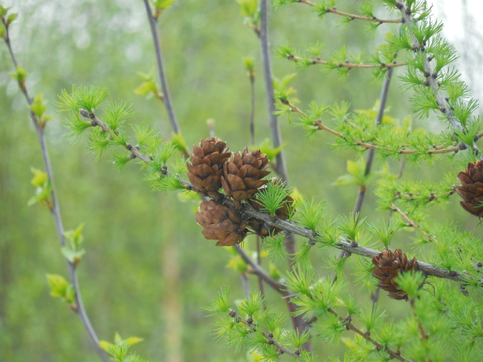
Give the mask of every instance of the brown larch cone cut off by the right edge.
M 458 173 L 461 186 L 456 186 L 456 192 L 463 198 L 459 204 L 470 214 L 483 217 L 483 163 L 478 160 L 470 162 L 465 171 Z

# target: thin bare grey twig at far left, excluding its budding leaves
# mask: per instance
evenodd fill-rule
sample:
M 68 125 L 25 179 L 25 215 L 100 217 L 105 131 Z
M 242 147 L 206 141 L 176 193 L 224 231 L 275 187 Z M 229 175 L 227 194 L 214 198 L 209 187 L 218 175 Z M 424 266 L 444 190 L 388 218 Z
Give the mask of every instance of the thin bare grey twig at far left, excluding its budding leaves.
M 12 57 L 12 62 L 14 63 L 15 69 L 18 68 L 18 63 L 17 60 L 15 59 L 14 52 L 12 49 L 12 45 L 10 43 L 10 37 L 8 33 L 8 27 L 5 26 L 6 28 L 6 33 L 5 33 L 5 42 L 7 44 L 7 48 L 10 52 L 10 56 Z M 29 106 L 32 105 L 32 98 L 28 94 L 28 89 L 24 83 L 18 83 L 19 88 L 23 95 L 25 96 L 25 99 L 27 100 L 27 103 Z M 42 158 L 43 158 L 43 163 L 45 165 L 45 171 L 47 173 L 47 176 L 49 178 L 51 187 L 52 187 L 52 206 L 49 208 L 50 212 L 52 213 L 52 216 L 54 217 L 54 222 L 56 224 L 56 230 L 57 230 L 57 237 L 59 238 L 60 245 L 62 247 L 65 246 L 65 238 L 64 238 L 64 226 L 62 223 L 62 217 L 60 214 L 60 206 L 58 202 L 58 197 L 57 197 L 57 191 L 55 187 L 55 182 L 54 182 L 54 173 L 52 171 L 52 165 L 50 163 L 50 157 L 49 153 L 47 150 L 47 143 L 45 141 L 45 132 L 44 132 L 44 127 L 39 123 L 39 119 L 37 115 L 30 110 L 30 118 L 32 119 L 33 125 L 35 127 L 35 130 L 37 132 L 37 137 L 39 139 L 39 143 L 41 146 L 42 150 Z M 73 265 L 69 260 L 65 259 L 67 263 L 67 268 L 69 270 L 69 276 L 71 280 L 71 284 L 74 287 L 75 290 L 75 304 L 77 308 L 74 308 L 73 310 L 75 313 L 79 316 L 80 320 L 82 321 L 82 324 L 84 324 L 84 328 L 89 335 L 89 338 L 94 345 L 94 349 L 96 350 L 97 354 L 99 355 L 100 359 L 104 362 L 108 362 L 109 359 L 107 358 L 106 354 L 102 350 L 102 348 L 99 347 L 99 338 L 92 327 L 92 324 L 89 320 L 89 317 L 87 316 L 87 313 L 85 311 L 84 303 L 82 301 L 81 297 L 81 291 L 79 287 L 79 281 L 77 279 L 77 272 L 75 270 L 75 265 Z

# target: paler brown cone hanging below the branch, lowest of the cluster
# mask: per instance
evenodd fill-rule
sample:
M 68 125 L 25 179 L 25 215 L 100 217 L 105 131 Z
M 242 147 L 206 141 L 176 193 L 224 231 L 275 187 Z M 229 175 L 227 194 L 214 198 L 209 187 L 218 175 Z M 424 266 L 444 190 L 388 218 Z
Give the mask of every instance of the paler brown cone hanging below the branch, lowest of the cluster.
M 218 240 L 217 246 L 239 244 L 247 234 L 246 223 L 240 213 L 214 200 L 203 201 L 195 214 L 196 221 L 203 226 L 203 235 L 209 240 Z

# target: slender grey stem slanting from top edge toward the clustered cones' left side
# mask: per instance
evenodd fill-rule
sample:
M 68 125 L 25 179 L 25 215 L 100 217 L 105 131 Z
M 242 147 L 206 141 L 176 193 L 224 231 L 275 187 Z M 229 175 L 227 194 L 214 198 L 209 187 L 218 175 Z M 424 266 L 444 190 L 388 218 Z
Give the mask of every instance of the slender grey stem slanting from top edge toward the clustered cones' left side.
M 149 6 L 148 0 L 143 0 L 144 6 L 146 7 L 146 13 L 148 15 L 149 27 L 151 28 L 151 35 L 153 36 L 154 49 L 156 54 L 157 70 L 159 74 L 159 80 L 161 82 L 161 88 L 163 89 L 163 102 L 168 112 L 168 117 L 170 118 L 171 128 L 174 133 L 179 133 L 180 127 L 178 121 L 176 120 L 176 115 L 174 114 L 173 105 L 171 103 L 170 91 L 168 89 L 168 83 L 166 82 L 166 76 L 163 67 L 163 56 L 161 53 L 161 46 L 159 45 L 159 33 L 157 30 L 157 18 L 153 16 L 151 7 Z

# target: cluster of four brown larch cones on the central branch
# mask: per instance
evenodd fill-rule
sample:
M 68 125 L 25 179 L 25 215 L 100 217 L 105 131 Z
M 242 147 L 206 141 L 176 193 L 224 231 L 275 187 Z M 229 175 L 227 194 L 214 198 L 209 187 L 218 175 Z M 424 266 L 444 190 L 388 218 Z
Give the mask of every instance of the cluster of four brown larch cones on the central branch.
M 193 146 L 192 156 L 186 166 L 193 187 L 200 194 L 213 198 L 202 201 L 196 212 L 196 221 L 203 226 L 205 238 L 218 240 L 217 246 L 230 246 L 239 244 L 247 236 L 248 228 L 261 237 L 281 231 L 255 218 L 244 220 L 238 209 L 243 200 L 247 200 L 256 210 L 262 209 L 255 200 L 256 192 L 268 182 L 279 182 L 264 179 L 270 174 L 267 171 L 270 163 L 265 153 L 259 150 L 250 153 L 246 147 L 241 153 L 228 152 L 226 142 L 212 137 L 201 139 L 199 146 Z M 233 199 L 236 208 L 215 201 L 220 199 L 221 188 Z M 293 199 L 287 196 L 276 216 L 286 220 L 292 202 Z

